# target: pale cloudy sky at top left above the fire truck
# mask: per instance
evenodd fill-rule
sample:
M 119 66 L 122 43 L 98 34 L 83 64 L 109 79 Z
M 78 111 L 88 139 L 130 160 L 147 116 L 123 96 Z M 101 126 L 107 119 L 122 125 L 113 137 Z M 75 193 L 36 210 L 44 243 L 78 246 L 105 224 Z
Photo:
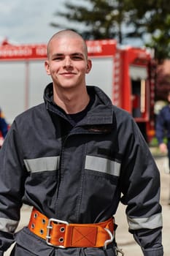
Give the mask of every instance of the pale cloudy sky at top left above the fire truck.
M 58 30 L 49 25 L 65 0 L 0 0 L 0 43 L 46 43 Z

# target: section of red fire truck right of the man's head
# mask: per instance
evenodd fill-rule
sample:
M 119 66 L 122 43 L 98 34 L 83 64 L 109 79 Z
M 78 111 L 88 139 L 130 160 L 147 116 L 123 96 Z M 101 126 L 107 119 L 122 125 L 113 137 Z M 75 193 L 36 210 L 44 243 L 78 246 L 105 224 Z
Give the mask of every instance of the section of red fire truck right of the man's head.
M 93 69 L 88 83 L 98 85 L 114 105 L 127 110 L 149 142 L 155 133 L 155 64 L 146 48 L 119 47 L 115 40 L 88 41 Z

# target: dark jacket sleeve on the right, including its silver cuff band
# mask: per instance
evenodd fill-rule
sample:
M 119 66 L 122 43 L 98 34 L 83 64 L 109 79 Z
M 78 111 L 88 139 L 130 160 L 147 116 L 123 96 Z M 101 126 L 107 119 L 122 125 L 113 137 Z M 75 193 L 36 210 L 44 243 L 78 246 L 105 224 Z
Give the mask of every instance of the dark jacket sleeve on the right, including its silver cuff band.
M 125 136 L 124 131 L 121 201 L 127 205 L 129 232 L 134 235 L 145 256 L 162 256 L 160 173 L 133 119 L 125 129 L 128 135 Z

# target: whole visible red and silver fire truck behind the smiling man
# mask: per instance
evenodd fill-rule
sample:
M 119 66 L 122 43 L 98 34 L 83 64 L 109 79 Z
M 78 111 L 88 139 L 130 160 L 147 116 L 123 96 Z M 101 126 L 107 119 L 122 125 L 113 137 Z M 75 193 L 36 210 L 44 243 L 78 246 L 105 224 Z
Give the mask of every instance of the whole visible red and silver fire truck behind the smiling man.
M 112 99 L 114 105 L 131 113 L 144 138 L 149 141 L 154 134 L 155 97 L 155 69 L 151 54 L 145 48 L 119 47 L 115 39 L 91 40 L 87 41 L 87 45 L 89 57 L 93 61 L 92 70 L 87 75 L 87 84 L 99 86 Z M 0 91 L 3 92 L 0 99 L 10 120 L 42 101 L 40 85 L 44 89 L 47 75 L 43 76 L 42 70 L 39 72 L 37 66 L 42 69 L 45 59 L 45 44 L 15 46 L 4 40 L 0 46 Z M 9 81 L 10 76 L 5 75 L 9 61 L 12 65 L 10 73 L 15 67 L 15 72 L 11 75 L 12 81 Z M 20 61 L 20 65 L 16 65 L 16 61 Z M 22 80 L 18 80 L 19 78 Z M 24 80 L 25 86 L 22 83 Z M 9 92 L 15 97 L 11 97 L 8 102 Z M 11 105 L 12 108 L 9 107 Z

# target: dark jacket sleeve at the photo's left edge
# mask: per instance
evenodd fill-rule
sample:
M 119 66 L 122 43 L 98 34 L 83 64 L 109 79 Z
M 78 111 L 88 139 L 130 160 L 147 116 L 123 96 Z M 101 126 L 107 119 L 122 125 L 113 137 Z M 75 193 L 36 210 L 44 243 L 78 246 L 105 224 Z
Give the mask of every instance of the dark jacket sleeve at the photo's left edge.
M 16 129 L 14 122 L 0 150 L 0 255 L 13 242 L 24 191 L 25 172 Z

